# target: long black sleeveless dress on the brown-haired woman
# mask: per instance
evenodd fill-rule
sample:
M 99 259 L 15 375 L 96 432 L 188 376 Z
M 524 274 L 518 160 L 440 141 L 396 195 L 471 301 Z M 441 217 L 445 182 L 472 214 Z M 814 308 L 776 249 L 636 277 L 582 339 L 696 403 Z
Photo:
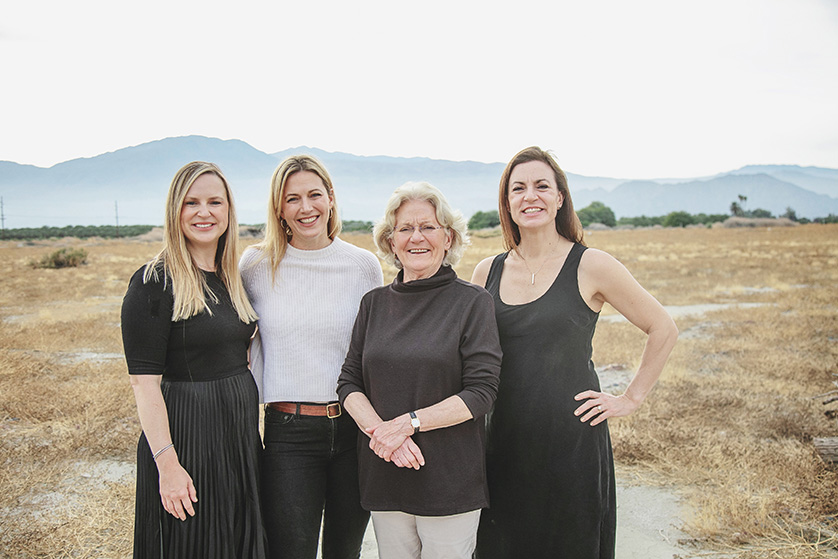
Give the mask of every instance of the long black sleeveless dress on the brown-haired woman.
M 478 532 L 479 559 L 613 559 L 614 460 L 607 422 L 573 411 L 579 392 L 599 390 L 591 340 L 599 313 L 579 294 L 586 247 L 575 244 L 550 289 L 523 305 L 499 294 L 508 253 L 492 262 L 503 364 L 488 419 L 491 506 Z

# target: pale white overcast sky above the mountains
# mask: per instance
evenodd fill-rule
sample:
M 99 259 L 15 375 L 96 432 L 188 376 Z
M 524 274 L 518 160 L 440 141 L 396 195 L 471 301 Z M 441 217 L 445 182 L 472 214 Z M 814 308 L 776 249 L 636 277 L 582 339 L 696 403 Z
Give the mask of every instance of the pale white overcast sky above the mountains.
M 0 160 L 171 136 L 697 177 L 838 168 L 838 1 L 0 7 Z

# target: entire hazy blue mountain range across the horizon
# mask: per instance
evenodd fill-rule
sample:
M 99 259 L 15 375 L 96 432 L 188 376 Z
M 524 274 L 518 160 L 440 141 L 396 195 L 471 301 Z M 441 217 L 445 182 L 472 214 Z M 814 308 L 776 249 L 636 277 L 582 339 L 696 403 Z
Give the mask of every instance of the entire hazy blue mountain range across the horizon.
M 466 217 L 497 208 L 504 163 L 423 157 L 358 156 L 298 147 L 264 153 L 240 140 L 203 136 L 166 138 L 49 168 L 0 161 L 6 228 L 44 225 L 160 224 L 175 172 L 194 160 L 212 161 L 233 189 L 240 223 L 264 223 L 270 179 L 288 155 L 309 153 L 326 165 L 343 219 L 374 221 L 392 191 L 406 181 L 440 188 Z M 603 202 L 616 216 L 672 211 L 727 214 L 746 196 L 747 209 L 799 217 L 838 214 L 838 169 L 749 165 L 711 177 L 630 180 L 567 173 L 574 206 Z

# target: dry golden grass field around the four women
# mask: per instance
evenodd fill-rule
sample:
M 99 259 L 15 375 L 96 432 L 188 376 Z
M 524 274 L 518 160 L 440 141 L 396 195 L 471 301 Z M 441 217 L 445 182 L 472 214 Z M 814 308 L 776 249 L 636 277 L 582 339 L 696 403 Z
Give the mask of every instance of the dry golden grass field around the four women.
M 473 241 L 466 279 L 501 250 L 496 235 Z M 838 381 L 838 226 L 597 231 L 587 242 L 681 330 L 644 406 L 611 421 L 620 475 L 678 488 L 694 511 L 685 556 L 834 556 L 838 469 L 812 438 L 838 436 L 838 402 L 824 404 Z M 88 264 L 29 265 L 63 246 L 87 250 Z M 0 243 L 0 557 L 130 556 L 140 427 L 119 308 L 158 248 Z M 642 343 L 603 316 L 595 363 L 630 371 Z

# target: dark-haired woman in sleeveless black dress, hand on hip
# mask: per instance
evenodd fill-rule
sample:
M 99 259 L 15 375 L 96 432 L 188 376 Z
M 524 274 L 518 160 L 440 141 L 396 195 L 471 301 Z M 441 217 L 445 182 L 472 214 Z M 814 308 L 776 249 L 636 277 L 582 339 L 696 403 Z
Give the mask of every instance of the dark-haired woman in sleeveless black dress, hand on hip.
M 614 557 L 614 461 L 606 419 L 640 406 L 678 330 L 616 259 L 582 243 L 567 178 L 540 148 L 504 170 L 499 213 L 508 252 L 478 264 L 472 282 L 495 300 L 503 363 L 489 417 L 490 508 L 479 559 Z M 624 394 L 600 391 L 591 361 L 609 303 L 648 335 Z

